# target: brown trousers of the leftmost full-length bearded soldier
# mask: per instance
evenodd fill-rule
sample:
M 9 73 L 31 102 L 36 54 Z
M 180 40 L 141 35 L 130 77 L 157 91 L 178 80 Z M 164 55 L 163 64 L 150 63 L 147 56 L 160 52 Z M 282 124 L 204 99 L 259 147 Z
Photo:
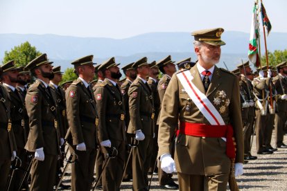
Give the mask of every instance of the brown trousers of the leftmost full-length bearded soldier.
M 58 155 L 45 154 L 44 161 L 33 159 L 30 190 L 53 190 Z

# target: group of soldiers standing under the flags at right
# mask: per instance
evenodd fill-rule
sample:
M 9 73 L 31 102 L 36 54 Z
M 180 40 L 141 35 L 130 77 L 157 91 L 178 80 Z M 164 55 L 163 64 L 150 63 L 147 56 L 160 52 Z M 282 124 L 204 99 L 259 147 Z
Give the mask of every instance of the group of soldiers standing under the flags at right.
M 257 158 L 250 153 L 252 134 L 256 134 L 257 154 L 272 154 L 277 148 L 287 148 L 283 142 L 287 111 L 286 62 L 275 67 L 262 66 L 255 73 L 252 73 L 249 62 L 245 62 L 233 73 L 238 76 L 240 87 L 245 160 Z M 275 147 L 271 145 L 273 128 Z

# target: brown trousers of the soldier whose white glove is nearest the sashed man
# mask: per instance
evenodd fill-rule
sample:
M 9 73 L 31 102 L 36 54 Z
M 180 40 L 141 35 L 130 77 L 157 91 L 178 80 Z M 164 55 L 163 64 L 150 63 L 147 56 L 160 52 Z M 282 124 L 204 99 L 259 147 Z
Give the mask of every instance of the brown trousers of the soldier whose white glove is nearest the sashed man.
M 134 191 L 148 187 L 148 168 L 153 151 L 152 136 L 139 140 L 139 145 L 132 150 L 132 186 Z

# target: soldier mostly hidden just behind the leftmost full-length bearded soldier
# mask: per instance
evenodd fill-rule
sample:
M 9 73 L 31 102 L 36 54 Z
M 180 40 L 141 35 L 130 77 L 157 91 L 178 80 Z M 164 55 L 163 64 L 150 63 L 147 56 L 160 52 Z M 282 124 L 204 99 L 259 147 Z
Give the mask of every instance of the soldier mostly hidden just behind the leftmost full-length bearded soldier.
M 50 81 L 49 87 L 51 91 L 55 94 L 56 102 L 58 105 L 58 115 L 59 115 L 59 129 L 60 129 L 60 145 L 61 145 L 61 158 L 58 160 L 58 167 L 57 167 L 57 177 L 56 177 L 56 184 L 58 185 L 58 181 L 60 181 L 61 167 L 64 166 L 64 137 L 67 134 L 68 129 L 68 120 L 66 116 L 66 98 L 64 90 L 59 86 L 59 83 L 62 81 L 62 72 L 61 66 L 53 67 L 54 78 Z M 69 185 L 60 184 L 61 189 L 69 189 L 71 188 Z

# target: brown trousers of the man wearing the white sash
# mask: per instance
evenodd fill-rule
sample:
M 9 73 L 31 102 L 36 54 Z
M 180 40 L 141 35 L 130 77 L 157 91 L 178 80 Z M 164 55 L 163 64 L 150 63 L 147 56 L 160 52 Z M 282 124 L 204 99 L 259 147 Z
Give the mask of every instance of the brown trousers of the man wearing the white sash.
M 180 191 L 227 190 L 229 173 L 212 176 L 182 174 L 180 172 L 177 174 Z

